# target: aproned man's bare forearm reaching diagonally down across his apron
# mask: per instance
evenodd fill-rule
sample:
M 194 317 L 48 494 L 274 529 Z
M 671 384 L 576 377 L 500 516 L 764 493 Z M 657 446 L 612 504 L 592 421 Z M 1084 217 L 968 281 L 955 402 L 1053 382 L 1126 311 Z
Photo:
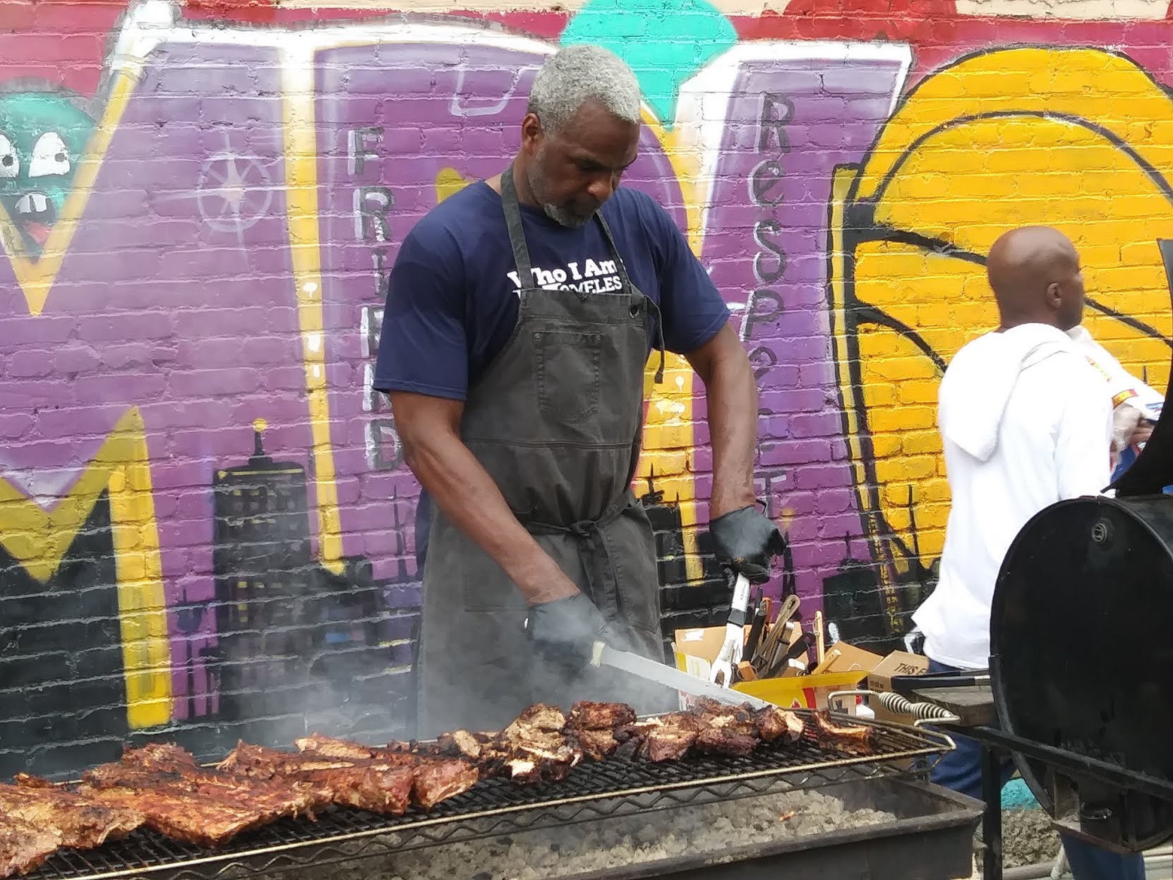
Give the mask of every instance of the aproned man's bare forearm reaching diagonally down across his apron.
M 577 591 L 517 521 L 493 478 L 460 438 L 441 434 L 426 442 L 405 442 L 405 453 L 433 503 L 501 566 L 527 602 L 549 602 Z

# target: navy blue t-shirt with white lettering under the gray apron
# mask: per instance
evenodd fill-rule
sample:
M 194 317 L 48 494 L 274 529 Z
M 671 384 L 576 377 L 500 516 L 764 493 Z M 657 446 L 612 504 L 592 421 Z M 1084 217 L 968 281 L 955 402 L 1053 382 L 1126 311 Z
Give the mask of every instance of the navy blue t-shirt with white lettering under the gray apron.
M 598 223 L 567 229 L 521 205 L 535 285 L 619 289 Z M 621 187 L 603 217 L 632 283 L 656 300 L 664 345 L 683 354 L 712 339 L 728 309 L 657 202 Z M 517 272 L 501 196 L 483 181 L 446 198 L 408 232 L 391 270 L 374 387 L 463 400 L 517 323 Z

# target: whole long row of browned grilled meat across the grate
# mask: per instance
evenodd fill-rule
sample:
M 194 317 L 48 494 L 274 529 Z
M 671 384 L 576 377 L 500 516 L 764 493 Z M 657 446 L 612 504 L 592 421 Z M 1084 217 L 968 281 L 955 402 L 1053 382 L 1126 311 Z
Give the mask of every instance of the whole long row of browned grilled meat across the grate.
M 141 825 L 217 846 L 280 817 L 312 819 L 328 804 L 399 815 L 412 803 L 430 810 L 490 776 L 560 780 L 586 756 L 745 756 L 805 736 L 852 754 L 873 746 L 869 725 L 840 724 L 826 712 L 812 718 L 700 699 L 691 711 L 640 722 L 625 704 L 584 700 L 569 713 L 535 704 L 500 732 L 457 730 L 434 743 L 367 746 L 318 733 L 296 740 L 297 752 L 238 743 L 215 769 L 172 744 L 128 749 L 120 761 L 87 771 L 75 791 L 28 774 L 0 785 L 0 879 L 34 869 L 60 846 L 101 846 Z

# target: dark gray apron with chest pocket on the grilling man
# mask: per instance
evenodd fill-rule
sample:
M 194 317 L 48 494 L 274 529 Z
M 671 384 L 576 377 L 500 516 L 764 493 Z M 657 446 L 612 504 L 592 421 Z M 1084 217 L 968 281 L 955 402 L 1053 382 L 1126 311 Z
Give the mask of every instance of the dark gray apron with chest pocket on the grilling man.
M 657 381 L 664 370 L 659 310 L 631 284 L 599 214 L 622 290 L 534 286 L 511 165 L 501 190 L 522 282 L 517 324 L 468 391 L 461 439 L 521 523 L 599 609 L 611 644 L 663 661 L 656 542 L 631 492 L 650 324 L 660 352 Z M 500 730 L 535 702 L 621 699 L 640 711 L 671 706 L 664 689 L 595 668 L 568 679 L 536 657 L 521 591 L 436 505 L 432 508 L 418 737 Z

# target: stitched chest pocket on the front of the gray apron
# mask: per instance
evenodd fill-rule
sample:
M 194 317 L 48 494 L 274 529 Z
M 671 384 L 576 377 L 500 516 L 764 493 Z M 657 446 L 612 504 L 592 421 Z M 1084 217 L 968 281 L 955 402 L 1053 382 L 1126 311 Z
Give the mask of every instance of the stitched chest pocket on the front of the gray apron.
M 537 405 L 564 422 L 598 413 L 602 333 L 561 330 L 534 332 Z

